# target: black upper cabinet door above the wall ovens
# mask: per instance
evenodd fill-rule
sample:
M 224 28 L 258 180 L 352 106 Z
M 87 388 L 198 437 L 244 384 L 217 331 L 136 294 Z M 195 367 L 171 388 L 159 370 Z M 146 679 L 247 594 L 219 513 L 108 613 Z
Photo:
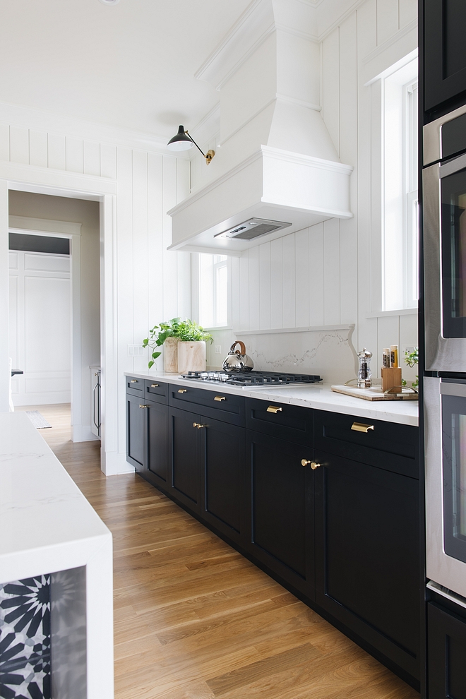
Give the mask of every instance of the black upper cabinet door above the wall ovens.
M 431 119 L 466 102 L 465 25 L 465 0 L 424 0 L 424 111 Z

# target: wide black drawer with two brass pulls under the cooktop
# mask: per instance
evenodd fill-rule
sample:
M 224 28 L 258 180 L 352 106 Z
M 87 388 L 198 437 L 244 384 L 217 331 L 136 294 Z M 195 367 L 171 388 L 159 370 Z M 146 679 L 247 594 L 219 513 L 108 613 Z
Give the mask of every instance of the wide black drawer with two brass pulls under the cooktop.
M 191 388 L 191 386 L 169 387 L 169 404 L 180 410 L 201 412 L 205 417 L 244 426 L 244 397 L 222 393 L 220 386 L 215 390 Z

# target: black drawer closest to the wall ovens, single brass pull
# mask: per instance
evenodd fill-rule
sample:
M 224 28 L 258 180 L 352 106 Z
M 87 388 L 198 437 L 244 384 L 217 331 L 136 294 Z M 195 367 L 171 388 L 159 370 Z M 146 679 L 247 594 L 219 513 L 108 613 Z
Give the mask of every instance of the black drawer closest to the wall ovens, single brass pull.
M 316 410 L 316 449 L 352 461 L 419 478 L 418 440 L 417 427 Z

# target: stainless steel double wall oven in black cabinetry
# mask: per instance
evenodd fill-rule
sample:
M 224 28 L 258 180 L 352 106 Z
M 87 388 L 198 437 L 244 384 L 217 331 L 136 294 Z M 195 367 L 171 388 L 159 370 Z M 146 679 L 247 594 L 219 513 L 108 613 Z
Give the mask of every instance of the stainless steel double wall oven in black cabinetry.
M 427 577 L 466 606 L 466 106 L 424 126 L 422 186 Z

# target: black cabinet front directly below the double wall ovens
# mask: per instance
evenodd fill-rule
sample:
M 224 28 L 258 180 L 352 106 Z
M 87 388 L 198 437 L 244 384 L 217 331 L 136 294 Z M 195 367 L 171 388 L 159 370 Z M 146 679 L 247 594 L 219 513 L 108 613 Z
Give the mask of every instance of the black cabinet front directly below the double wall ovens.
M 427 641 L 429 699 L 465 699 L 466 619 L 429 602 Z

